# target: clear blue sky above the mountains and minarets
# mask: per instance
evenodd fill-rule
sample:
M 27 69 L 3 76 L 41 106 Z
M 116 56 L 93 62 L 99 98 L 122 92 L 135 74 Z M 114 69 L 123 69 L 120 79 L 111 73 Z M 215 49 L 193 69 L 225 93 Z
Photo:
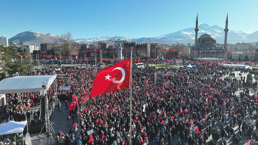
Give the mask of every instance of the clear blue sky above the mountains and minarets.
M 0 35 L 24 31 L 74 39 L 97 36 L 154 37 L 199 24 L 258 30 L 257 0 L 1 0 Z

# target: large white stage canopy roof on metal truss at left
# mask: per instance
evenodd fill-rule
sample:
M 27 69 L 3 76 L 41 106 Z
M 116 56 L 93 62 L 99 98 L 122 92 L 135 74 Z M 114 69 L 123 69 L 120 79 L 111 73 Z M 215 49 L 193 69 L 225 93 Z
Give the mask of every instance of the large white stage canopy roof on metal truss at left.
M 0 82 L 0 94 L 40 92 L 44 81 L 46 89 L 49 89 L 55 79 L 55 75 L 16 76 L 3 79 Z

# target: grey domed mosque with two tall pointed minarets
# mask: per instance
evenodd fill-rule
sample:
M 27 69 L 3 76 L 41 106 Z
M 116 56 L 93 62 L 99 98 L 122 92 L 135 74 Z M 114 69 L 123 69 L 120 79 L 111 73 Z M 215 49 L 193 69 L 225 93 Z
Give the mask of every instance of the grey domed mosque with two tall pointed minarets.
M 228 29 L 228 15 L 226 18 L 226 27 L 225 31 L 225 39 L 224 39 L 224 47 L 219 46 L 216 43 L 216 40 L 211 37 L 209 34 L 203 34 L 197 39 L 198 34 L 198 14 L 196 17 L 195 23 L 195 45 L 192 46 L 190 51 L 190 57 L 193 59 L 212 59 L 212 58 L 221 58 L 226 59 L 227 56 L 227 33 Z

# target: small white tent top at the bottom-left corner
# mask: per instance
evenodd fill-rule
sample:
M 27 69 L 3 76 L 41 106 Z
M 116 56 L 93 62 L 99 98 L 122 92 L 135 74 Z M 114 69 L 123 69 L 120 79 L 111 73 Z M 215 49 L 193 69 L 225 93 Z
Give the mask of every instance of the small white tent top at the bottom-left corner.
M 27 121 L 15 122 L 9 121 L 7 123 L 0 124 L 0 135 L 11 134 L 11 133 L 21 133 L 24 130 Z

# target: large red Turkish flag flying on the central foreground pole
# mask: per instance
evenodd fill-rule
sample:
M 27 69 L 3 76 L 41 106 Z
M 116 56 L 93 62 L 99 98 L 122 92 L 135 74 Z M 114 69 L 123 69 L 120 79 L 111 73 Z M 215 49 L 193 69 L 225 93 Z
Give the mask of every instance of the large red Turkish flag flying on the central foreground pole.
M 90 97 L 130 87 L 131 59 L 101 70 L 94 78 Z

